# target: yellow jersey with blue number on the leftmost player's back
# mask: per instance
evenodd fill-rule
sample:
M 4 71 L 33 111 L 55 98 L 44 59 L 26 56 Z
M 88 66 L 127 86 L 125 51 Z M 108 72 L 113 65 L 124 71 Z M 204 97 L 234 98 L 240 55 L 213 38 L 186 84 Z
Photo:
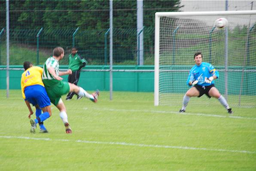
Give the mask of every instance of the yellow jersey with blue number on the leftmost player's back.
M 33 66 L 28 68 L 21 75 L 21 91 L 22 97 L 25 99 L 24 89 L 30 85 L 43 85 L 42 81 L 43 68 Z

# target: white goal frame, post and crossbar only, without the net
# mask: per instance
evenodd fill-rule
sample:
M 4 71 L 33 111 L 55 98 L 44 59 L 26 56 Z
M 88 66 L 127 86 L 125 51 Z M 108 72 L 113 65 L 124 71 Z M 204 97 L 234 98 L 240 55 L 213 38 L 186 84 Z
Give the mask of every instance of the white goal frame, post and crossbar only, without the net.
M 155 13 L 155 83 L 154 105 L 159 105 L 159 43 L 160 43 L 160 17 L 200 16 L 200 15 L 250 15 L 256 10 L 247 11 L 210 11 L 210 12 L 156 12 Z

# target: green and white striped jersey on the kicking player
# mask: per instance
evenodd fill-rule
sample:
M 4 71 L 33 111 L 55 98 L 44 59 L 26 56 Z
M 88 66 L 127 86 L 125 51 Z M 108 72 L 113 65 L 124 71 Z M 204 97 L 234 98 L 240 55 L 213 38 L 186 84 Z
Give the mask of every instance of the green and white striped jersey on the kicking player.
M 59 76 L 59 62 L 57 59 L 51 56 L 46 60 L 46 63 L 43 65 L 43 80 L 55 80 L 52 74 L 50 74 L 48 71 L 49 67 L 54 68 L 56 75 Z

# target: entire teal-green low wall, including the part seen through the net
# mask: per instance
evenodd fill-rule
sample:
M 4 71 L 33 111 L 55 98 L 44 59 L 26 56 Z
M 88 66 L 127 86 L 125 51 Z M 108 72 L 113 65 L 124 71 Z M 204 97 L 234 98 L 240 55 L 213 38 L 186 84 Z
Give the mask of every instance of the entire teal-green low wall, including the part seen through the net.
M 41 66 L 42 67 L 42 66 Z M 6 66 L 0 66 L 6 68 Z M 22 65 L 10 66 L 10 68 L 23 68 Z M 67 66 L 61 66 L 61 69 L 67 69 Z M 167 66 L 167 68 L 179 69 L 181 66 Z M 182 66 L 183 69 L 190 69 L 191 66 Z M 109 69 L 107 65 L 86 66 L 85 69 Z M 134 65 L 118 65 L 113 66 L 113 69 L 139 69 L 139 70 L 153 70 L 154 66 L 134 66 Z M 223 67 L 216 67 L 216 69 L 223 69 Z M 242 67 L 232 67 L 231 69 L 242 69 Z M 249 68 L 255 70 L 255 67 Z M 9 88 L 21 89 L 20 81 L 23 70 L 10 70 L 9 71 Z M 165 77 L 167 84 L 166 90 L 163 92 L 177 92 L 184 93 L 188 90 L 189 86 L 186 85 L 188 72 L 171 72 L 161 73 L 161 77 Z M 64 81 L 67 81 L 68 76 L 62 76 Z M 110 81 L 109 72 L 104 71 L 85 71 L 81 72 L 78 85 L 85 90 L 94 91 L 99 89 L 101 91 L 109 91 Z M 241 88 L 241 71 L 232 71 L 228 73 L 228 94 L 239 94 L 242 89 L 242 94 L 256 95 L 256 91 L 252 87 L 256 87 L 256 72 L 244 72 L 244 81 Z M 225 74 L 219 72 L 219 79 L 216 80 L 216 87 L 220 93 L 225 93 Z M 6 70 L 0 70 L 0 89 L 6 89 Z M 114 91 L 154 91 L 154 72 L 113 72 L 113 90 Z

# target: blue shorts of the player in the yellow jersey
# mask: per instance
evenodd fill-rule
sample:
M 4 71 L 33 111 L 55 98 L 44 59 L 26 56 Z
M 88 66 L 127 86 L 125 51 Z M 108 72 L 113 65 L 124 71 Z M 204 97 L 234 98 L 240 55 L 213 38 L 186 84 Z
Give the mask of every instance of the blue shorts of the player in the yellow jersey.
M 24 89 L 25 97 L 29 103 L 39 105 L 40 108 L 50 106 L 51 102 L 46 93 L 46 89 L 42 85 L 30 85 Z

